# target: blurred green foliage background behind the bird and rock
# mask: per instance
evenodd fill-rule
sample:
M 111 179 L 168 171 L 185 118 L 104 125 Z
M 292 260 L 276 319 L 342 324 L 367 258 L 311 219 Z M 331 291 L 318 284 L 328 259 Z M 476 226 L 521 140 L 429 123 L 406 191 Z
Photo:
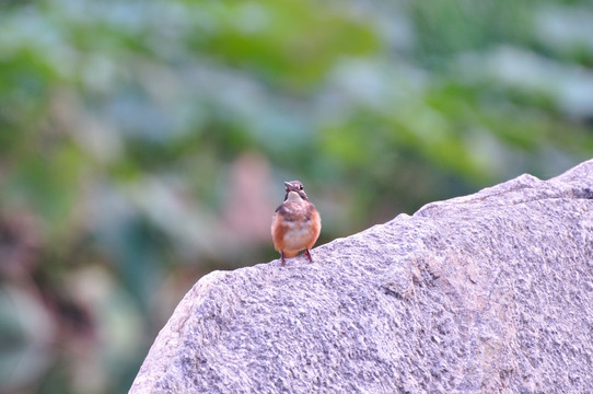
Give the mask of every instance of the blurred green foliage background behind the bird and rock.
M 212 269 L 593 152 L 590 1 L 0 2 L 0 392 L 119 393 Z

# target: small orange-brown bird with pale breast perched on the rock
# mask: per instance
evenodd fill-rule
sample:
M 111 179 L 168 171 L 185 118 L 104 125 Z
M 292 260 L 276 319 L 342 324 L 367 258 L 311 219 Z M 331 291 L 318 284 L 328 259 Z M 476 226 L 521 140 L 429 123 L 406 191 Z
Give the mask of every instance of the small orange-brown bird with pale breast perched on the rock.
M 284 202 L 276 209 L 271 219 L 274 247 L 280 252 L 282 265 L 286 265 L 284 257 L 294 257 L 302 250 L 313 263 L 309 250 L 319 237 L 322 218 L 306 197 L 301 182 L 284 182 Z

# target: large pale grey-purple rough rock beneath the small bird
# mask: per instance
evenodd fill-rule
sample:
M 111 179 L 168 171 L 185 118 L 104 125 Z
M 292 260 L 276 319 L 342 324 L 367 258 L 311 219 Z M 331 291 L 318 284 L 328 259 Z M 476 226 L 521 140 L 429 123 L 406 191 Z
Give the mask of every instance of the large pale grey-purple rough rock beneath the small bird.
M 131 393 L 593 390 L 593 161 L 201 278 Z

